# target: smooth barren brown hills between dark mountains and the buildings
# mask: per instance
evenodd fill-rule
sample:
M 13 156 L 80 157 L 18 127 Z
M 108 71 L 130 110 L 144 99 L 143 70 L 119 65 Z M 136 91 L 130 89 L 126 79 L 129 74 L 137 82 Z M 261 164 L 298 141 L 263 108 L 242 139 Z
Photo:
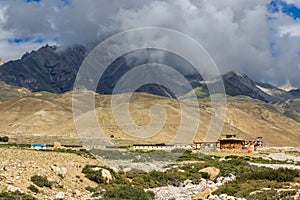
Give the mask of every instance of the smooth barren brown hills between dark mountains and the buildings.
M 115 97 L 121 105 L 128 95 L 131 94 L 120 94 Z M 149 108 L 152 105 L 161 105 L 167 114 L 166 123 L 158 134 L 141 139 L 124 133 L 116 125 L 110 95 L 95 96 L 99 125 L 107 137 L 116 144 L 168 143 L 172 142 L 178 131 L 181 110 L 179 102 L 175 99 L 144 93 L 135 93 L 131 96 L 130 114 L 137 125 L 145 126 L 151 122 Z M 190 108 L 199 107 L 200 123 L 194 140 L 202 141 L 210 122 L 210 103 L 208 100 L 199 102 L 186 100 L 185 103 Z M 129 127 L 133 124 L 131 122 L 122 125 Z M 53 141 L 60 141 L 65 145 L 81 143 L 73 120 L 71 92 L 61 95 L 26 93 L 21 97 L 3 98 L 0 100 L 0 125 L 1 135 L 8 135 L 11 142 L 51 144 Z M 87 124 L 87 129 L 88 126 Z M 244 139 L 263 136 L 267 146 L 298 146 L 300 143 L 300 123 L 286 117 L 268 104 L 250 98 L 229 98 L 222 134 L 229 132 L 236 133 Z

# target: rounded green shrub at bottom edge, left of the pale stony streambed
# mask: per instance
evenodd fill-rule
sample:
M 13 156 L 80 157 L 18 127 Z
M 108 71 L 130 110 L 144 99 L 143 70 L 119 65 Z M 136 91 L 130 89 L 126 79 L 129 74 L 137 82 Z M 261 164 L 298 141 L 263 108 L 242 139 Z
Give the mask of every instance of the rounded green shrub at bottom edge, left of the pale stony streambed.
M 141 188 L 135 188 L 128 185 L 123 185 L 108 190 L 104 194 L 104 199 L 105 200 L 113 200 L 113 199 L 151 200 L 154 199 L 154 193 L 145 192 Z

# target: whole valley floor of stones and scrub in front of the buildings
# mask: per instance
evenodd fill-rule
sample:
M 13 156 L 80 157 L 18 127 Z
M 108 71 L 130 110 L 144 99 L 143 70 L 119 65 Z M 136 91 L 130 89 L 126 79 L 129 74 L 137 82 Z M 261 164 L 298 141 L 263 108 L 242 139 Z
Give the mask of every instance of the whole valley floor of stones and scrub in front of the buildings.
M 102 150 L 94 150 L 94 152 L 98 152 L 99 155 L 105 154 L 106 159 L 110 159 L 108 152 L 104 153 Z M 65 149 L 58 152 L 58 150 L 42 151 L 1 147 L 0 191 L 14 192 L 19 190 L 37 199 L 55 199 L 58 197 L 62 197 L 62 199 L 94 199 L 103 194 L 105 197 L 105 191 L 110 191 L 118 187 L 120 182 L 123 182 L 122 184 L 126 185 L 139 183 L 145 189 L 150 186 L 147 191 L 154 192 L 154 199 L 166 199 L 167 197 L 169 199 L 194 199 L 209 196 L 210 199 L 238 199 L 238 197 L 239 199 L 242 197 L 261 199 L 263 195 L 274 195 L 273 199 L 276 199 L 276 195 L 286 195 L 284 198 L 289 195 L 290 197 L 294 196 L 295 199 L 299 198 L 300 148 L 264 148 L 252 154 L 211 152 L 203 157 L 199 157 L 199 153 L 183 153 L 179 161 L 165 163 L 165 165 L 163 162 L 145 160 L 144 154 L 148 155 L 147 153 L 136 153 L 138 159 L 135 161 L 132 158 L 126 162 L 115 160 L 118 166 L 111 165 L 109 167 L 119 172 L 112 173 L 111 171 L 110 174 L 107 171 L 108 175 L 106 175 L 107 177 L 113 176 L 114 179 L 118 180 L 118 183 L 106 183 L 99 182 L 102 179 L 93 179 L 91 178 L 93 176 L 89 176 L 89 173 L 96 173 L 105 163 L 90 157 L 90 154 L 85 150 Z M 130 155 L 132 156 L 132 154 Z M 112 153 L 110 156 L 112 156 L 110 163 L 113 163 L 115 158 Z M 150 159 L 152 159 L 151 156 Z M 99 167 L 86 169 L 86 166 Z M 277 180 L 278 177 L 267 177 L 270 179 L 267 181 L 259 177 L 263 173 L 277 173 L 271 168 L 291 168 L 291 166 L 293 169 L 298 169 L 298 175 L 295 175 L 294 181 L 284 180 L 282 182 Z M 206 168 L 209 168 L 207 169 L 210 175 L 209 179 L 200 173 L 201 169 Z M 268 168 L 271 171 L 266 171 Z M 148 172 L 145 173 L 143 170 Z M 154 173 L 150 171 L 154 171 Z M 249 172 L 254 177 L 258 176 L 256 177 L 257 180 L 255 178 L 252 180 Z M 290 172 L 293 173 L 293 171 L 282 173 Z M 32 177 L 35 175 L 47 177 L 52 187 L 37 187 L 32 181 Z M 212 176 L 215 178 L 211 179 Z M 180 179 L 177 180 L 176 177 Z M 245 181 L 243 177 L 248 177 L 249 180 Z M 147 178 L 149 178 L 149 182 L 145 181 Z M 183 179 L 186 180 L 180 181 Z M 37 192 L 28 188 L 33 185 L 38 188 Z M 254 188 L 250 189 L 251 185 L 254 185 Z M 270 191 L 269 189 L 265 190 L 268 185 Z M 244 187 L 248 188 L 249 191 L 241 193 L 240 190 L 246 190 Z M 251 197 L 250 194 L 254 195 L 253 198 L 249 198 Z

